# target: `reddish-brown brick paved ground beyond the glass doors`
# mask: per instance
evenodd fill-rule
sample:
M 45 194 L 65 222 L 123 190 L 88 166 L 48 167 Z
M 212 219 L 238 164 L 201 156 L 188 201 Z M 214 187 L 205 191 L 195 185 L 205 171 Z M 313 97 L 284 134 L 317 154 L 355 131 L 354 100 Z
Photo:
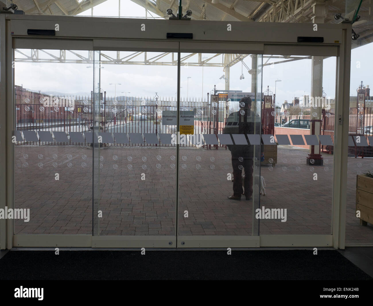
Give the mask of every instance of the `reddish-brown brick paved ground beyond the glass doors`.
M 15 152 L 16 207 L 31 213 L 29 222 L 16 220 L 16 234 L 91 234 L 92 149 L 16 146 Z M 100 149 L 100 155 L 100 189 L 95 186 L 103 212 L 100 234 L 174 235 L 176 148 L 110 147 Z M 260 197 L 260 206 L 286 208 L 287 221 L 263 220 L 260 234 L 330 234 L 333 156 L 324 154 L 325 166 L 314 171 L 305 165 L 306 156 L 304 149 L 279 146 L 278 164 L 261 167 L 267 195 Z M 346 243 L 373 244 L 372 225 L 360 226 L 355 218 L 356 174 L 372 171 L 373 159 L 349 157 L 348 162 Z M 253 202 L 227 199 L 232 194 L 228 150 L 182 147 L 179 163 L 180 235 L 251 235 L 253 228 L 258 233 Z

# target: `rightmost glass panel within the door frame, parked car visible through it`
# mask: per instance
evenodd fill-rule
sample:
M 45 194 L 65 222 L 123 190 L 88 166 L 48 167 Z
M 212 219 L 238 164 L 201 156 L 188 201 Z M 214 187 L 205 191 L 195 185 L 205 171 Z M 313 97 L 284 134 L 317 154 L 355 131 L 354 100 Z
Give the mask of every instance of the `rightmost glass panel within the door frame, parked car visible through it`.
M 260 234 L 331 234 L 336 57 L 268 54 L 263 62 L 282 127 L 274 127 L 276 146 L 264 146 L 260 205 L 269 214 Z

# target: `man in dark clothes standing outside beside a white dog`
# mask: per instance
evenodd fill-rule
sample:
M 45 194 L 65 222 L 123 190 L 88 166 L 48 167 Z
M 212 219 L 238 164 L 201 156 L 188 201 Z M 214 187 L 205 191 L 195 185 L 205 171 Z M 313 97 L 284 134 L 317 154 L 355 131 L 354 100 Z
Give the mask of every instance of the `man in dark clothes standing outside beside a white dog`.
M 244 97 L 239 101 L 240 110 L 231 113 L 227 118 L 223 134 L 263 134 L 261 120 L 251 111 L 250 97 Z M 245 135 L 246 139 L 247 136 Z M 248 141 L 248 139 L 247 139 Z M 248 142 L 249 143 L 249 142 Z M 254 152 L 255 147 L 255 152 Z M 253 195 L 253 165 L 254 157 L 264 160 L 263 145 L 238 144 L 228 145 L 232 154 L 233 168 L 233 195 L 230 200 L 241 200 L 241 194 L 245 194 L 246 200 L 251 200 Z M 242 190 L 242 169 L 245 169 L 244 190 Z

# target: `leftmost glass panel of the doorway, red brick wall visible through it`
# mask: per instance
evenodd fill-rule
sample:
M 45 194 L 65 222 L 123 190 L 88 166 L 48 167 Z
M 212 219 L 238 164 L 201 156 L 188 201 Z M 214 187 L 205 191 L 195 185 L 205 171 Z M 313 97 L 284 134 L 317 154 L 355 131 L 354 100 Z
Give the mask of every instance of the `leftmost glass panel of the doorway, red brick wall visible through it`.
M 90 235 L 92 51 L 14 54 L 15 234 Z

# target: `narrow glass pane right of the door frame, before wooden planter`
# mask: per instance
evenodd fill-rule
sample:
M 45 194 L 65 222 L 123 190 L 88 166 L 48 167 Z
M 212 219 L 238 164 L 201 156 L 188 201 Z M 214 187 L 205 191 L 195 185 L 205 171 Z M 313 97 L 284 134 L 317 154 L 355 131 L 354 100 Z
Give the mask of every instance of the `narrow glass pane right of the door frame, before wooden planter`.
M 373 178 L 366 177 L 373 173 L 373 62 L 367 56 L 372 50 L 370 43 L 351 51 L 346 246 L 373 244 Z

